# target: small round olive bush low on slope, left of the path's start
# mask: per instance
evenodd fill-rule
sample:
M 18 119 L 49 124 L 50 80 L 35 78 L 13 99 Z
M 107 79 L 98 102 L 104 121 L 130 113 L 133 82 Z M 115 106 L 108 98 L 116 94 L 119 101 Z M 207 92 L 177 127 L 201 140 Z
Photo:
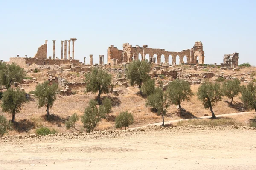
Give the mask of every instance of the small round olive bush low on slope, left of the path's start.
M 134 122 L 133 115 L 131 113 L 128 113 L 128 111 L 125 111 L 125 112 L 123 111 L 116 117 L 115 125 L 116 125 L 116 128 L 125 127 L 125 130 L 126 130 L 126 127 L 129 127 L 130 125 L 132 125 L 133 122 Z

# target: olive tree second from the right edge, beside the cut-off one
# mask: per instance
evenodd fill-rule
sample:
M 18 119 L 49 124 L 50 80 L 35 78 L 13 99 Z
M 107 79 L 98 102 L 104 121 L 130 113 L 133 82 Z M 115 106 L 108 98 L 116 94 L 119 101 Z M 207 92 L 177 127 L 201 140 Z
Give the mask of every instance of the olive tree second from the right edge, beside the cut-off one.
M 233 98 L 239 95 L 241 92 L 241 86 L 239 79 L 228 80 L 223 82 L 222 85 L 223 94 L 231 99 L 230 105 L 232 105 Z

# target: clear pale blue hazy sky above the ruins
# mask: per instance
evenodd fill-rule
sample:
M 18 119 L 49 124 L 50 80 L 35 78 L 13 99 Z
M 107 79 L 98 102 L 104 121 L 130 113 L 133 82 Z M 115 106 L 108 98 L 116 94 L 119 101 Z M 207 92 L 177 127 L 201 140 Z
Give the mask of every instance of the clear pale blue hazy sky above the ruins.
M 256 65 L 256 0 L 0 0 L 0 59 L 33 57 L 45 40 L 60 58 L 70 38 L 87 63 L 110 45 L 181 51 L 201 41 L 207 64 L 238 52 L 240 64 Z

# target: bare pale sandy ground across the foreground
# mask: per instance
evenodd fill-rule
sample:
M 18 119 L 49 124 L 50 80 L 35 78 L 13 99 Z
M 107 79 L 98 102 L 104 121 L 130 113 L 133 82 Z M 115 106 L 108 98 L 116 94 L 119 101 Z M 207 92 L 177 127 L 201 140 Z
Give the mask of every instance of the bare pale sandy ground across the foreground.
M 0 140 L 0 170 L 255 170 L 256 130 Z

